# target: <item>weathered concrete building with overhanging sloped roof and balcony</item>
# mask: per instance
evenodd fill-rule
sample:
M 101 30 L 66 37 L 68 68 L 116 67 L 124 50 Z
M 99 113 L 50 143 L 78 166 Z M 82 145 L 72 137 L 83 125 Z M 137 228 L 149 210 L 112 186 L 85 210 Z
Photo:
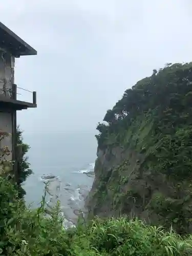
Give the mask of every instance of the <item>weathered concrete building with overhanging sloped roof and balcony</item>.
M 0 22 L 0 133 L 6 132 L 11 135 L 0 140 L 0 150 L 8 147 L 10 152 L 3 158 L 8 161 L 14 160 L 15 176 L 17 173 L 16 111 L 37 107 L 36 92 L 31 92 L 32 102 L 17 100 L 17 86 L 14 83 L 15 58 L 36 54 L 35 49 Z

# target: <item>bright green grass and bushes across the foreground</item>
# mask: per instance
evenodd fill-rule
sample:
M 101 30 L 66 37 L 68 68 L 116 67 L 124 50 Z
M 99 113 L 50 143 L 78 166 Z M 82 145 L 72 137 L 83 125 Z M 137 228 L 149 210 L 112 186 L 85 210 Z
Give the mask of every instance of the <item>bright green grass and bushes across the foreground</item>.
M 192 239 L 173 230 L 123 218 L 95 220 L 63 229 L 59 205 L 45 217 L 45 200 L 36 210 L 18 200 L 13 185 L 0 178 L 0 255 L 121 256 L 192 255 Z

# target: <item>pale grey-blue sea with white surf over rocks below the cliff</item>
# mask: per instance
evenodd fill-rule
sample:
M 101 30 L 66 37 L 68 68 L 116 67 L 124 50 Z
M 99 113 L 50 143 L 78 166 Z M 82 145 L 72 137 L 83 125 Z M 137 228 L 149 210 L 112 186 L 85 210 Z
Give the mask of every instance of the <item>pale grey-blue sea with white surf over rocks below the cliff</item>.
M 95 132 L 23 133 L 30 145 L 28 161 L 33 174 L 23 184 L 27 206 L 40 205 L 47 185 L 47 207 L 60 201 L 65 228 L 86 214 L 84 199 L 94 180 L 97 151 Z

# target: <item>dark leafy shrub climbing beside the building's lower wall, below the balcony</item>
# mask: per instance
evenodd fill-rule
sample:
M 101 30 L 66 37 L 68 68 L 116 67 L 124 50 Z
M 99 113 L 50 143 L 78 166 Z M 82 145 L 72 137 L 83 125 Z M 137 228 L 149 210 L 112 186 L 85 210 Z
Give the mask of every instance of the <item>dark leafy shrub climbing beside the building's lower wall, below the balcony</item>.
M 26 181 L 27 177 L 32 174 L 32 170 L 29 168 L 30 163 L 28 162 L 28 156 L 26 156 L 29 151 L 30 146 L 23 142 L 22 130 L 17 127 L 16 139 L 17 145 L 22 146 L 22 158 L 18 163 L 18 193 L 19 197 L 23 198 L 26 191 L 22 187 L 22 183 Z

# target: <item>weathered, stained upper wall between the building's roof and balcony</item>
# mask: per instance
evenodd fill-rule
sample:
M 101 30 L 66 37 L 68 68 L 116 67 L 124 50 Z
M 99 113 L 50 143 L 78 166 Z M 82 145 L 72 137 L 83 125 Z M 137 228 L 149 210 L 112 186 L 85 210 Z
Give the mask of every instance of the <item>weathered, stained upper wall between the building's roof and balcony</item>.
M 14 83 L 15 58 L 0 49 L 0 94 L 11 97 L 11 85 Z

